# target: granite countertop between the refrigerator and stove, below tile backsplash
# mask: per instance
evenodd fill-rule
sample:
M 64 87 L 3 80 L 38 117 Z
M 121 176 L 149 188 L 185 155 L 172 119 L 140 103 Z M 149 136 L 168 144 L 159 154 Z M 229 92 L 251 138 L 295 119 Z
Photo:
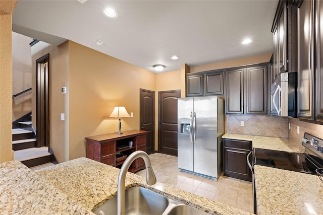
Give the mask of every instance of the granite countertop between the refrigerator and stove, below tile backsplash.
M 304 147 L 295 144 L 295 142 L 291 141 L 289 138 L 255 136 L 235 133 L 226 133 L 222 136 L 222 138 L 252 141 L 252 148 L 304 153 Z

